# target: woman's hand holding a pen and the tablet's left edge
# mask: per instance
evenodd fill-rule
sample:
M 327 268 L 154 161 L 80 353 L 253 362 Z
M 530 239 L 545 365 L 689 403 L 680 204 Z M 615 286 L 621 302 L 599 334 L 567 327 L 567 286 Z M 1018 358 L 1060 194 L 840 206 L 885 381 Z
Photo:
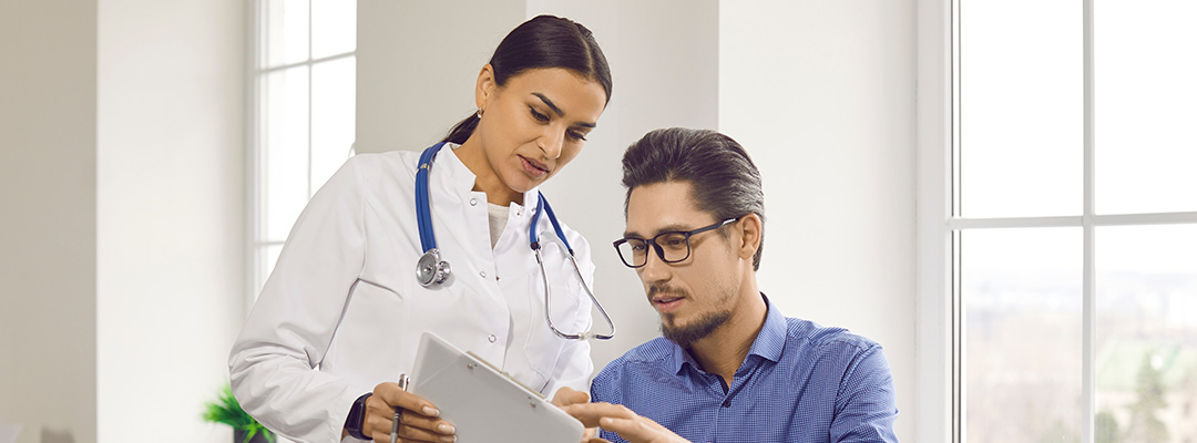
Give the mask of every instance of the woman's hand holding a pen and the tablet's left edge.
M 437 418 L 440 411 L 424 398 L 399 388 L 399 384 L 387 382 L 375 387 L 373 395 L 366 400 L 366 417 L 361 433 L 373 437 L 375 442 L 390 442 L 390 427 L 396 408 L 400 411 L 400 442 L 455 442 L 457 430 Z

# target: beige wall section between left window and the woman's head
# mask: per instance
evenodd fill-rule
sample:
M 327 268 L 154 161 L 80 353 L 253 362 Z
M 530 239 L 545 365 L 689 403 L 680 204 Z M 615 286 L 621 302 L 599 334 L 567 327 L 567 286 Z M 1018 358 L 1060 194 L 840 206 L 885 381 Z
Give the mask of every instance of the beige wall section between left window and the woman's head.
M 474 113 L 474 80 L 522 0 L 358 0 L 357 152 L 419 151 Z

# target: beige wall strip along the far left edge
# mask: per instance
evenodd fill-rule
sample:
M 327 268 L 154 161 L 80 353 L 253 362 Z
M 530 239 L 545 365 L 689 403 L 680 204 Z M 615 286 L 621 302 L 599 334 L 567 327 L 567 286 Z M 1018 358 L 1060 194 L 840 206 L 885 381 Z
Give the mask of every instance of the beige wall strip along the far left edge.
M 0 2 L 0 423 L 96 439 L 96 5 Z

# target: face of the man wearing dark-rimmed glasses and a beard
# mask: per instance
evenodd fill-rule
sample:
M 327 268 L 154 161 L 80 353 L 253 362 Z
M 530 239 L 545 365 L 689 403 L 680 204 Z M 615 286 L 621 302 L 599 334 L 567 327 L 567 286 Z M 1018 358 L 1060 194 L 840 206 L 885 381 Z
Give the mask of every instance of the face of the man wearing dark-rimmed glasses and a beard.
M 689 182 L 663 182 L 632 189 L 627 200 L 625 238 L 650 239 L 662 232 L 691 231 L 716 222 L 699 211 Z M 725 323 L 735 309 L 740 285 L 739 256 L 723 230 L 736 224 L 689 237 L 689 256 L 666 263 L 652 247 L 648 261 L 636 268 L 649 303 L 661 315 L 661 332 L 681 346 L 689 346 Z M 722 231 L 722 232 L 721 232 Z

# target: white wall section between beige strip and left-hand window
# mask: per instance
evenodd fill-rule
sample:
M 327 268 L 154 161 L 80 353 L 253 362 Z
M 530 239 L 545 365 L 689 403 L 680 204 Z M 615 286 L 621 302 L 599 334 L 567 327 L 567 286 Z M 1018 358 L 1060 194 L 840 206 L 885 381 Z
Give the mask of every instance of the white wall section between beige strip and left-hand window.
M 99 442 L 200 420 L 244 317 L 245 2 L 98 2 Z

